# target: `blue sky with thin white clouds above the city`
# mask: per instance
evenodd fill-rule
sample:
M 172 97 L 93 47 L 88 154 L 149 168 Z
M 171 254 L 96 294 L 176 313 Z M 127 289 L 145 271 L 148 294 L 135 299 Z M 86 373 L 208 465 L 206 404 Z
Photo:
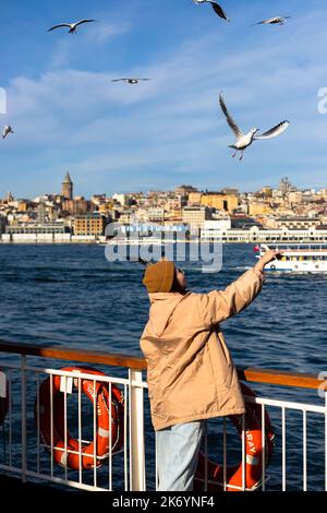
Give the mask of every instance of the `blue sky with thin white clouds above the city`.
M 1 0 L 0 123 L 14 134 L 0 140 L 0 198 L 58 193 L 66 171 L 86 198 L 284 176 L 327 187 L 326 0 L 220 4 L 230 23 L 192 0 Z M 275 15 L 292 17 L 252 26 Z M 48 32 L 84 17 L 97 22 Z M 111 82 L 125 76 L 152 80 Z M 231 158 L 220 92 L 244 132 L 291 124 Z

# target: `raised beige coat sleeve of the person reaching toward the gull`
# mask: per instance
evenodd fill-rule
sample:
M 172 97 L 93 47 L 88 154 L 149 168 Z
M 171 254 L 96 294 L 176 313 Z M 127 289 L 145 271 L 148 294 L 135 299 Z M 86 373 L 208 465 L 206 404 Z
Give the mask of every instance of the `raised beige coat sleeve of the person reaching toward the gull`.
M 246 308 L 261 293 L 264 273 L 251 269 L 225 290 L 198 295 L 199 315 L 205 325 L 218 324 Z

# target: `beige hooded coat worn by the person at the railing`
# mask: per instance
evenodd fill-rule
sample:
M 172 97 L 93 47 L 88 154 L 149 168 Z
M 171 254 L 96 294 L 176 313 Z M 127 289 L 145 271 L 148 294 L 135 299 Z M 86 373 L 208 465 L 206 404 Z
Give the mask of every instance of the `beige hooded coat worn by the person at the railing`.
M 141 348 L 155 430 L 244 411 L 219 323 L 247 307 L 262 286 L 262 273 L 251 269 L 222 291 L 149 295 Z

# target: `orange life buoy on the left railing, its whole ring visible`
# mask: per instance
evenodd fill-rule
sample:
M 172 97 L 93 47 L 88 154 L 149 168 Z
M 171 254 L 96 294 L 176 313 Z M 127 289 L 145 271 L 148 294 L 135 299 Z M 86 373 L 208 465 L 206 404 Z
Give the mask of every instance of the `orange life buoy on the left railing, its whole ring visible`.
M 64 367 L 64 371 L 84 372 L 87 374 L 106 375 L 89 367 Z M 72 469 L 99 467 L 106 455 L 109 455 L 111 439 L 111 453 L 118 452 L 123 444 L 124 399 L 120 390 L 112 383 L 111 397 L 109 397 L 109 384 L 92 379 L 81 379 L 81 391 L 94 404 L 96 395 L 96 439 L 90 443 L 81 444 L 81 457 L 78 453 L 80 443 L 73 439 L 66 428 L 64 432 L 64 393 L 60 391 L 61 377 L 52 379 L 52 443 L 53 460 L 63 467 Z M 73 385 L 78 387 L 78 380 L 73 379 Z M 39 427 L 43 442 L 51 445 L 51 386 L 50 378 L 47 378 L 39 390 Z M 111 408 L 109 403 L 111 402 Z M 35 404 L 35 419 L 37 420 L 37 405 Z M 111 409 L 111 421 L 110 421 Z M 111 429 L 110 429 L 111 428 Z M 110 436 L 111 430 L 111 436 Z M 65 440 L 66 439 L 66 440 Z M 64 450 L 66 448 L 66 451 Z M 48 449 L 50 451 L 50 448 Z M 68 452 L 74 451 L 74 453 Z M 96 455 L 96 457 L 95 457 Z

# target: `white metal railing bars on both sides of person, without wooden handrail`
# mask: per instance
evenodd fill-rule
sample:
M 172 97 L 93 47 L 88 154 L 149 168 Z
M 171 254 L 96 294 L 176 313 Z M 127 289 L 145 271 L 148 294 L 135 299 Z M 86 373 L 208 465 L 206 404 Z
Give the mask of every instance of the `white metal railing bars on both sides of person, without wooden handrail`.
M 146 460 L 145 449 L 148 448 L 145 448 L 145 431 L 147 429 L 145 416 L 148 416 L 148 404 L 145 403 L 144 397 L 144 390 L 147 389 L 147 384 L 143 379 L 142 370 L 125 368 L 125 375 L 123 378 L 109 375 L 109 372 L 108 375 L 100 375 L 88 373 L 87 370 L 82 372 L 58 370 L 39 365 L 27 365 L 26 355 L 20 356 L 20 362 L 3 361 L 0 365 L 7 375 L 8 385 L 5 393 L 9 396 L 8 414 L 3 426 L 0 428 L 2 438 L 0 470 L 19 475 L 23 481 L 32 478 L 84 490 L 144 491 L 146 488 L 156 488 L 158 476 L 155 468 L 155 457 L 153 458 L 153 472 L 147 472 L 147 477 L 150 480 L 149 486 L 147 486 L 146 480 L 148 461 Z M 53 409 L 52 386 L 56 377 L 59 377 L 61 380 L 61 393 L 63 393 L 64 437 L 63 446 L 61 448 L 56 445 L 53 433 L 53 418 L 57 413 L 56 408 Z M 40 436 L 39 389 L 45 379 L 50 380 L 50 443 L 45 442 Z M 83 417 L 85 416 L 82 394 L 83 380 L 89 380 L 93 383 L 94 396 L 96 395 L 96 385 L 104 383 L 109 390 L 109 398 L 111 397 L 111 387 L 113 385 L 120 389 L 124 397 L 123 426 L 121 427 L 123 429 L 123 445 L 120 452 L 114 454 L 111 434 L 112 404 L 109 401 L 108 451 L 105 455 L 98 456 L 96 454 L 96 443 L 94 443 L 94 452 L 90 455 L 93 456 L 93 465 L 89 469 L 83 468 L 82 465 L 84 456 L 83 448 L 85 449 L 85 445 L 89 443 L 88 439 L 95 441 L 97 437 L 97 404 L 93 401 L 92 411 L 88 411 L 87 439 L 84 434 L 85 426 L 83 422 Z M 76 394 L 72 394 L 72 383 L 76 385 Z M 246 396 L 245 401 L 247 405 L 255 404 L 261 408 L 261 449 L 263 457 L 259 463 L 259 477 L 256 479 L 255 485 L 252 482 L 249 486 L 249 472 L 253 463 L 251 463 L 251 457 L 247 454 L 249 438 L 252 434 L 246 430 L 246 416 L 242 416 L 240 442 L 238 442 L 238 433 L 235 430 L 230 432 L 229 422 L 223 417 L 208 422 L 209 429 L 204 440 L 203 451 L 205 468 L 203 475 L 196 478 L 197 486 L 199 486 L 198 489 L 205 491 L 261 489 L 265 491 L 272 488 L 284 491 L 289 489 L 289 477 L 291 475 L 291 481 L 295 481 L 292 484 L 293 488 L 306 491 L 310 489 L 308 480 L 312 477 L 310 468 L 314 461 L 314 489 L 325 489 L 327 491 L 327 394 L 325 393 L 325 404 L 306 404 L 262 396 Z M 68 445 L 69 423 L 72 411 L 77 431 L 75 437 L 77 449 L 70 449 Z M 271 416 L 275 430 L 275 451 L 270 458 L 270 464 L 266 468 L 267 411 Z M 296 419 L 294 425 L 293 419 L 295 415 L 300 415 L 301 420 Z M 311 415 L 316 416 L 314 420 L 311 418 Z M 312 429 L 313 421 L 315 422 L 314 433 Z M 152 428 L 149 429 L 153 436 Z M 211 433 L 214 433 L 214 443 L 210 441 Z M 295 441 L 294 433 L 296 436 Z M 155 437 L 153 439 L 155 445 Z M 220 441 L 222 439 L 220 445 L 218 443 L 219 439 Z M 240 446 L 235 449 L 238 443 Z M 311 452 L 313 443 L 315 454 Z M 58 452 L 64 454 L 63 462 L 66 462 L 71 454 L 76 455 L 80 468 L 74 470 L 70 469 L 68 465 L 59 466 L 55 457 Z M 238 462 L 237 465 L 234 463 L 232 466 L 230 465 L 230 453 L 232 453 L 232 458 Z M 219 464 L 220 477 L 217 480 L 210 475 L 208 461 L 216 462 L 219 460 L 219 456 L 221 460 Z M 295 457 L 296 463 L 293 461 Z M 290 475 L 288 470 L 289 458 L 292 458 Z M 319 467 L 316 460 L 319 460 Z M 100 466 L 98 465 L 99 461 L 101 463 Z M 230 480 L 231 467 L 241 470 L 242 478 L 237 485 L 231 484 Z M 320 485 L 317 481 L 322 481 Z

